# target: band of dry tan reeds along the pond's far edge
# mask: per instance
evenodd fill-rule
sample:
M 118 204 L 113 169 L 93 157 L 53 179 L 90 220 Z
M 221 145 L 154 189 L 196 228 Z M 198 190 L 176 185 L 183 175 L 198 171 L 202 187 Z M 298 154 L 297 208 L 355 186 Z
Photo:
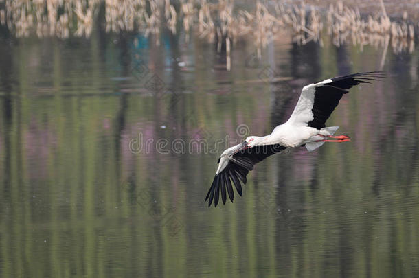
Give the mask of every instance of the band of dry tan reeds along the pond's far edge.
M 396 52 L 414 48 L 414 25 L 407 16 L 400 22 L 392 21 L 384 5 L 378 15 L 363 18 L 359 9 L 348 8 L 341 2 L 331 4 L 326 20 L 314 6 L 258 1 L 250 10 L 235 8 L 232 0 L 14 0 L 0 5 L 0 23 L 7 25 L 17 37 L 28 36 L 34 30 L 38 36 L 90 36 L 93 22 L 104 5 L 106 31 L 141 31 L 155 35 L 159 44 L 161 27 L 176 33 L 181 21 L 186 39 L 196 24 L 199 37 L 233 45 L 239 38 L 250 36 L 260 49 L 270 40 L 280 38 L 284 30 L 299 44 L 320 41 L 326 25 L 335 45 L 354 43 L 386 47 L 390 43 Z M 0 0 L 1 3 L 1 0 Z

